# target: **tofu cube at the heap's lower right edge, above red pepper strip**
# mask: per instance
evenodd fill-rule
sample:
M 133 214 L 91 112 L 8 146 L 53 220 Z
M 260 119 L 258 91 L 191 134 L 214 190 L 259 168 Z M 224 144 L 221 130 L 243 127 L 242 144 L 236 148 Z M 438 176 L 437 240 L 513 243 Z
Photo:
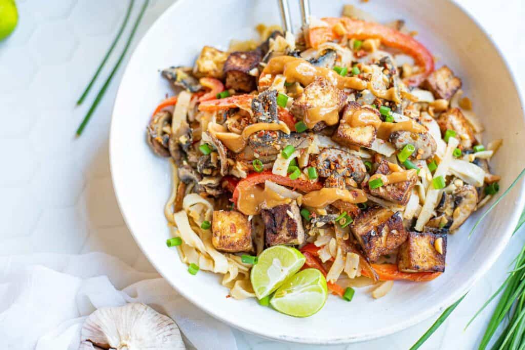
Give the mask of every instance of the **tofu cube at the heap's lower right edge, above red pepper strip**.
M 440 248 L 441 253 L 436 246 Z M 409 232 L 406 242 L 397 253 L 397 268 L 402 272 L 444 272 L 446 254 L 445 233 Z

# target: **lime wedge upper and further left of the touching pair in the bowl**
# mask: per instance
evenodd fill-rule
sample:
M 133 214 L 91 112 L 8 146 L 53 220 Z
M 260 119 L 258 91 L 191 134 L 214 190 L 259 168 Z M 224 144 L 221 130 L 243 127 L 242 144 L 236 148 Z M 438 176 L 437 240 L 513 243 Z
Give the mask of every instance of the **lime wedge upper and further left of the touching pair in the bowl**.
M 304 255 L 292 247 L 273 246 L 263 250 L 250 274 L 257 298 L 262 299 L 279 288 L 288 277 L 299 271 L 304 261 Z

